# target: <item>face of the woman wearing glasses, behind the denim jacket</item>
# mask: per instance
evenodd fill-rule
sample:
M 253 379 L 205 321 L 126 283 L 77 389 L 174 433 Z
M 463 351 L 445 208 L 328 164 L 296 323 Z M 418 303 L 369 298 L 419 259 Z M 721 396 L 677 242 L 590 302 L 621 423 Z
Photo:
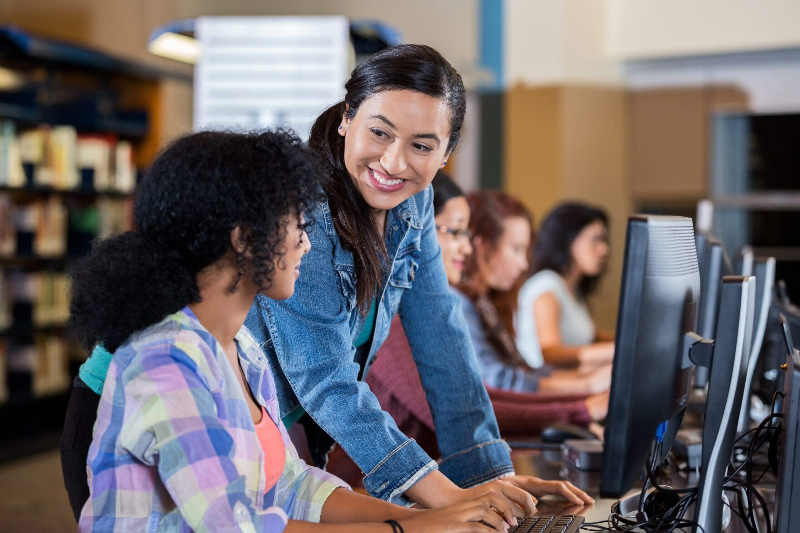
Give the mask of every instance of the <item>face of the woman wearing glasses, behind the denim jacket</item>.
M 470 204 L 463 196 L 447 200 L 436 215 L 436 235 L 442 247 L 442 261 L 450 285 L 461 283 L 464 262 L 472 254 L 469 234 L 466 233 L 469 226 Z

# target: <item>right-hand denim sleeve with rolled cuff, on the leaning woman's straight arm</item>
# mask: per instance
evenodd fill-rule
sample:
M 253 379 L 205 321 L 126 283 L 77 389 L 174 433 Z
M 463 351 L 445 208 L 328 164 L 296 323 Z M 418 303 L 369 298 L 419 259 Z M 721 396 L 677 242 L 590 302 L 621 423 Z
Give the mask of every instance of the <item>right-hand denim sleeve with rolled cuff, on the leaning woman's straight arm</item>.
M 450 293 L 435 233 L 433 193 L 418 195 L 420 264 L 398 312 L 434 416 L 439 468 L 460 487 L 514 471 L 483 386 L 458 297 Z

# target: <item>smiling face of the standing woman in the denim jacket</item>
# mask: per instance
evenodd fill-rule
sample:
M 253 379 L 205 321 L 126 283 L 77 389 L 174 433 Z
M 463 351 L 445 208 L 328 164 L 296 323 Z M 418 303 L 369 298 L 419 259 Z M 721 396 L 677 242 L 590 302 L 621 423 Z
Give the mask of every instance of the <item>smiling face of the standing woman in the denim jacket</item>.
M 342 118 L 345 166 L 374 209 L 390 210 L 430 185 L 446 162 L 450 109 L 414 90 L 383 90 Z

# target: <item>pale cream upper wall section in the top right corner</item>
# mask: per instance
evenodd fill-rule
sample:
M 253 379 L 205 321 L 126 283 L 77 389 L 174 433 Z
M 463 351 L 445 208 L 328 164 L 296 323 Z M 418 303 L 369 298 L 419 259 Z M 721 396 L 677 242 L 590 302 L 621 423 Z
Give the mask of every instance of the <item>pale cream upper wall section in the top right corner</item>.
M 798 0 L 608 0 L 608 53 L 636 59 L 800 46 Z

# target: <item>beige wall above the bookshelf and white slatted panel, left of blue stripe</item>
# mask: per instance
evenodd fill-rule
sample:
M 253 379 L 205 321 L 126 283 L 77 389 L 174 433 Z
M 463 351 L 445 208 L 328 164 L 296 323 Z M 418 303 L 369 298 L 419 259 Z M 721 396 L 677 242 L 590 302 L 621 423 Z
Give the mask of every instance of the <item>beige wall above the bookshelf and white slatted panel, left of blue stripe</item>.
M 374 18 L 397 28 L 406 42 L 434 46 L 469 79 L 478 48 L 475 0 L 0 0 L 0 22 L 54 38 L 79 42 L 119 56 L 191 74 L 190 66 L 157 58 L 147 38 L 157 26 L 202 15 L 344 14 Z M 162 83 L 159 138 L 192 126 L 192 90 L 184 82 Z

